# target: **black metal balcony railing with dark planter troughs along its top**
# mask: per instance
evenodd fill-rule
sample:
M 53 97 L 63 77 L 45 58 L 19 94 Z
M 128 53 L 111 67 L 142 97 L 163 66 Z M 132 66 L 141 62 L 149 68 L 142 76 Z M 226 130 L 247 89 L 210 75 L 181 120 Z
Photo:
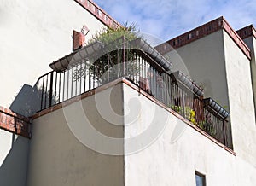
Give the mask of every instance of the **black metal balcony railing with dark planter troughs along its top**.
M 111 47 L 91 44 L 50 66 L 55 69 L 38 78 L 35 92 L 38 111 L 93 90 L 117 78 L 127 78 L 194 125 L 232 148 L 227 113 L 181 72 L 171 73 L 171 63 L 142 39 L 121 38 Z M 96 54 L 95 54 L 96 53 Z M 213 103 L 214 104 L 213 104 Z

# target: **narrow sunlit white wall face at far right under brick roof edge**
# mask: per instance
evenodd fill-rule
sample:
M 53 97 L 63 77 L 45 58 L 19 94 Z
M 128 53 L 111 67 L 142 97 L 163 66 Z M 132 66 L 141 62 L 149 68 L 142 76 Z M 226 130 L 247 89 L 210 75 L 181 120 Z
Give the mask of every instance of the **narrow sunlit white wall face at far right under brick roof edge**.
M 234 150 L 256 166 L 256 126 L 250 63 L 224 32 L 225 66 Z

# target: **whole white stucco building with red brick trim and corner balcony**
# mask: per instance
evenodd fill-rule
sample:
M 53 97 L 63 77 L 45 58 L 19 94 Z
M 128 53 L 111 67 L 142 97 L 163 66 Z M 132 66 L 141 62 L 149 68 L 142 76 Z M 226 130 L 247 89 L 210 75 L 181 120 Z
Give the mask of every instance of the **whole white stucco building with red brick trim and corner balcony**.
M 17 37 L 15 22 L 23 35 L 4 59 L 29 61 L 20 72 L 36 83 L 0 109 L 1 185 L 255 185 L 253 26 L 236 32 L 220 17 L 155 48 L 123 37 L 71 53 L 79 26 L 119 23 L 90 1 L 16 3 L 3 3 L 3 39 Z

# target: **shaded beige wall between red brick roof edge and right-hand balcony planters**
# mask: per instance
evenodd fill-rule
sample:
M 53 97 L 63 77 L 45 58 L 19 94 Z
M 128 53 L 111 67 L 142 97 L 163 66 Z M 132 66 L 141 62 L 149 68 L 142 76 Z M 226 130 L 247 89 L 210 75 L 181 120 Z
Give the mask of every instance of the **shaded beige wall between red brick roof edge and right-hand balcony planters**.
M 229 106 L 224 61 L 224 31 L 213 32 L 167 53 L 173 72 L 181 70 L 222 106 Z M 227 107 L 228 108 L 228 107 Z

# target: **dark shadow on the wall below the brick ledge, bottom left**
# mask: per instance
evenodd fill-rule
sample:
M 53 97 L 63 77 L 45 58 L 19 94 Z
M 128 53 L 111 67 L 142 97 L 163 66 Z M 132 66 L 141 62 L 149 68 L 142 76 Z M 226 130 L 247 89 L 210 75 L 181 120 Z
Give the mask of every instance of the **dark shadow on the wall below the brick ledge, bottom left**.
M 26 186 L 29 139 L 12 135 L 12 147 L 0 166 L 0 185 Z

